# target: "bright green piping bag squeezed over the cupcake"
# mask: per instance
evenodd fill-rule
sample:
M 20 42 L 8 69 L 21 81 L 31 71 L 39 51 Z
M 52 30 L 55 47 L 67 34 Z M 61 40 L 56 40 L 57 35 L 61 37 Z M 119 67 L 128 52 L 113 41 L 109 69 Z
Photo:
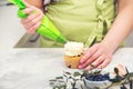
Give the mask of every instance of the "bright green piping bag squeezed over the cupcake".
M 9 0 L 9 2 L 16 4 L 18 10 L 19 18 L 27 18 L 28 14 L 22 10 L 27 8 L 22 0 Z M 66 38 L 58 30 L 58 28 L 49 20 L 47 16 L 44 16 L 41 20 L 40 27 L 37 29 L 37 32 L 58 42 L 65 43 Z

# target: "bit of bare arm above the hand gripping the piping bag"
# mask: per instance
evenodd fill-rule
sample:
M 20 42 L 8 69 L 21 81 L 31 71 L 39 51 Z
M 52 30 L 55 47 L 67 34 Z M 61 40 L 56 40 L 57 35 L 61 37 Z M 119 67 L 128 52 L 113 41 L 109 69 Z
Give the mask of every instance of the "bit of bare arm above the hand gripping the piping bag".
M 44 0 L 24 0 L 24 1 L 44 11 L 43 7 Z

